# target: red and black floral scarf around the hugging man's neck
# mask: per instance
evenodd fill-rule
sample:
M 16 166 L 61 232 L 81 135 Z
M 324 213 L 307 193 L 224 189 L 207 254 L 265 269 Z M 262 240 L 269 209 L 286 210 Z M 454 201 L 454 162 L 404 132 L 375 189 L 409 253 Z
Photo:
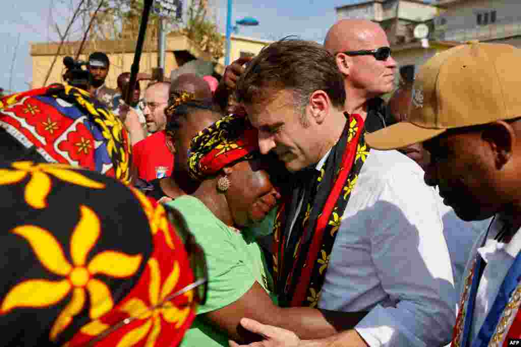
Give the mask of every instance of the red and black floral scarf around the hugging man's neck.
M 295 179 L 295 194 L 279 207 L 273 253 L 281 306 L 317 306 L 342 215 L 369 154 L 363 134 L 364 120 L 358 114 L 345 115 L 348 121 L 344 131 L 318 177 L 312 178 L 311 184 Z M 297 192 L 306 189 L 314 190 L 314 198 L 302 205 L 290 233 L 300 201 Z

